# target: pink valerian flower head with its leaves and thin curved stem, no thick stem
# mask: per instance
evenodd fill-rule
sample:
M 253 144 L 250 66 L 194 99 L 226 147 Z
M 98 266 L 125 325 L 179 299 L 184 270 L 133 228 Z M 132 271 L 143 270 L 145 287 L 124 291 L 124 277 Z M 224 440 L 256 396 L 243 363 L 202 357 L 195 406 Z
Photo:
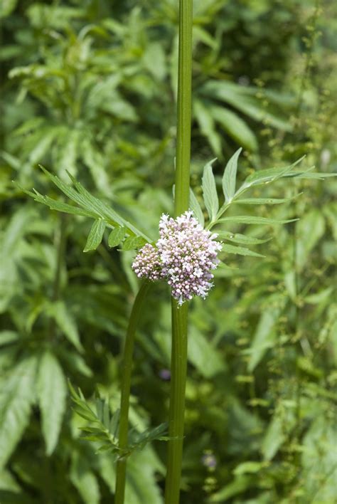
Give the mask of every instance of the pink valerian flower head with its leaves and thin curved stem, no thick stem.
M 249 191 L 252 187 L 263 187 L 264 184 L 270 184 L 279 179 L 323 179 L 329 175 L 313 172 L 312 168 L 300 169 L 299 162 L 302 159 L 299 159 L 299 161 L 287 167 L 259 170 L 249 175 L 236 189 L 240 150 L 235 152 L 225 166 L 222 179 L 222 204 L 220 204 L 221 199 L 218 197 L 212 165 L 209 162 L 203 170 L 201 185 L 203 201 L 199 202 L 192 189 L 189 189 L 190 209 L 176 219 L 163 214 L 159 221 L 159 239 L 157 241 L 147 236 L 146 231 L 139 230 L 134 224 L 127 221 L 122 214 L 112 209 L 104 201 L 92 196 L 71 175 L 70 179 L 73 182 L 73 187 L 43 169 L 56 187 L 65 196 L 68 196 L 71 204 L 60 201 L 60 199 L 50 198 L 50 196 L 43 196 L 36 190 L 27 191 L 23 189 L 35 201 L 45 204 L 50 209 L 94 219 L 87 237 L 87 243 L 84 244 L 85 252 L 95 250 L 100 245 L 106 229 L 109 230 L 108 244 L 110 247 L 118 246 L 121 252 L 137 251 L 132 268 L 137 276 L 144 278 L 145 281 L 135 299 L 125 343 L 124 383 L 122 383 L 124 394 L 122 393 L 121 406 L 121 410 L 124 410 L 123 423 L 121 424 L 119 411 L 115 411 L 110 418 L 107 402 L 102 402 L 97 398 L 96 411 L 93 411 L 85 401 L 82 393 L 77 394 L 75 389 L 71 388 L 75 411 L 88 421 L 88 426 L 82 427 L 85 439 L 101 443 L 98 450 L 114 453 L 117 464 L 118 462 L 122 463 L 123 468 L 126 465 L 127 457 L 135 449 L 143 447 L 145 443 L 154 439 L 175 441 L 173 436 L 169 438 L 164 436 L 166 434 L 165 426 L 148 429 L 136 435 L 132 435 L 128 428 L 127 411 L 129 407 L 134 335 L 141 314 L 141 304 L 149 290 L 149 284 L 160 280 L 168 283 L 171 287 L 171 295 L 177 301 L 178 313 L 194 295 L 205 298 L 208 290 L 213 285 L 213 269 L 218 266 L 218 263 L 226 266 L 225 261 L 228 254 L 263 257 L 260 253 L 248 247 L 256 246 L 269 238 L 254 238 L 229 231 L 228 227 L 231 224 L 235 226 L 237 224 L 265 224 L 270 226 L 287 224 L 297 220 L 272 219 L 251 215 L 224 216 L 230 207 L 236 204 L 242 204 L 242 206 L 274 205 L 283 204 L 293 199 L 242 197 L 245 196 L 246 191 Z M 216 229 L 215 233 L 210 231 L 213 228 Z M 117 429 L 119 429 L 119 433 L 121 433 L 120 429 L 122 429 L 122 440 L 120 434 L 118 439 Z M 168 502 L 176 501 L 168 500 Z

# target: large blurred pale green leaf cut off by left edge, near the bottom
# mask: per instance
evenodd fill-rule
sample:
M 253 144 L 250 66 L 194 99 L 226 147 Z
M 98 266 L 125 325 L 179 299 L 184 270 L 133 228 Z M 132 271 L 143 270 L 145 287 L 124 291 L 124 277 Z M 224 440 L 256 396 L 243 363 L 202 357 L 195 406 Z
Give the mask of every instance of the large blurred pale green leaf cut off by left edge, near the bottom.
M 36 358 L 21 360 L 0 389 L 0 468 L 4 467 L 29 422 L 36 381 Z

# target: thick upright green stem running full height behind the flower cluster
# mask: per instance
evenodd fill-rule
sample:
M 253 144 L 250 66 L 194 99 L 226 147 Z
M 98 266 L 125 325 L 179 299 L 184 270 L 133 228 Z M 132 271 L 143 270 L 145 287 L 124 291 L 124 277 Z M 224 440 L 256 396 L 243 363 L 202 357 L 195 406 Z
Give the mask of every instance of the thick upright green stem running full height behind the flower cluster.
M 179 60 L 176 142 L 176 187 L 174 211 L 188 210 L 191 159 L 191 72 L 193 0 L 180 0 Z M 178 504 L 183 456 L 183 425 L 187 369 L 188 303 L 181 307 L 172 298 L 171 394 L 169 413 L 169 453 L 165 503 Z

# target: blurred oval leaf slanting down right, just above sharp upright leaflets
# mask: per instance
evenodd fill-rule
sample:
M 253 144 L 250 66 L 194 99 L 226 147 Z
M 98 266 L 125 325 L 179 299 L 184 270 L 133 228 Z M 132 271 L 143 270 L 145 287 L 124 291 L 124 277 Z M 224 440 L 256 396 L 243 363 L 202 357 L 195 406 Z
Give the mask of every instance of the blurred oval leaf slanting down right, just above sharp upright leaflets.
M 212 105 L 209 107 L 213 119 L 223 127 L 228 135 L 232 137 L 239 145 L 253 152 L 257 150 L 257 139 L 255 133 L 250 129 L 247 123 L 241 119 L 235 112 L 224 107 Z

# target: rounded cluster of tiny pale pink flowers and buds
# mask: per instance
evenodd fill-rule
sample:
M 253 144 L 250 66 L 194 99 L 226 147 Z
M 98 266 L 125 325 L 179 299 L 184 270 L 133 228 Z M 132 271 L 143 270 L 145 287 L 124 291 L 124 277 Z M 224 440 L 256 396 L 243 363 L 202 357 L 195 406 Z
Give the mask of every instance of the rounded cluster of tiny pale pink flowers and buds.
M 193 295 L 205 298 L 213 285 L 211 271 L 219 263 L 218 235 L 205 231 L 193 212 L 186 211 L 176 219 L 163 214 L 159 236 L 156 246 L 147 243 L 140 249 L 132 264 L 134 272 L 149 280 L 166 279 L 179 305 Z

